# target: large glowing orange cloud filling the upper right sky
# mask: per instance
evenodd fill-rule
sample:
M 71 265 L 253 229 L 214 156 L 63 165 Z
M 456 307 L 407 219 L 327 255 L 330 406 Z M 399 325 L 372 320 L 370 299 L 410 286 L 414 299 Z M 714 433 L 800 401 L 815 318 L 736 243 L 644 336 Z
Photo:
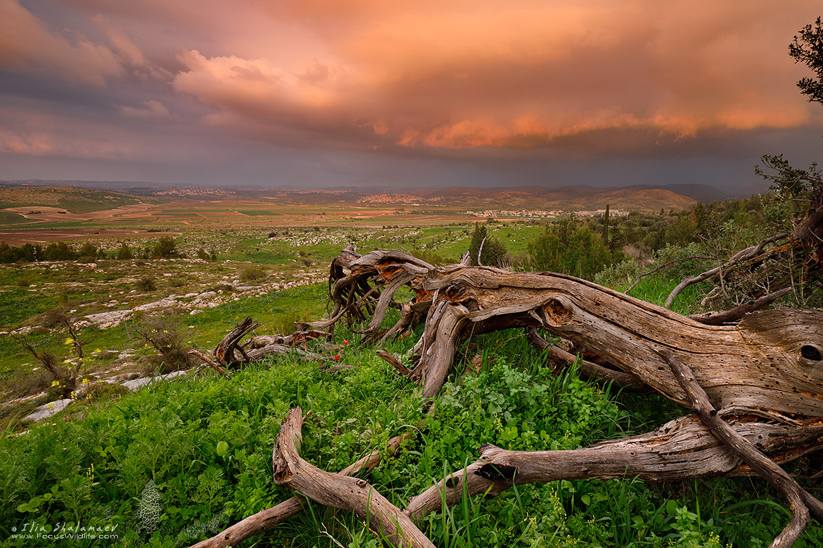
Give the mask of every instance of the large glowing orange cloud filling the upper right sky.
M 277 38 L 271 56 L 184 53 L 174 88 L 222 113 L 209 122 L 258 135 L 286 124 L 370 148 L 461 149 L 810 121 L 786 44 L 814 2 L 295 0 L 269 9 L 313 34 L 325 56 L 295 50 L 284 61 L 288 44 Z

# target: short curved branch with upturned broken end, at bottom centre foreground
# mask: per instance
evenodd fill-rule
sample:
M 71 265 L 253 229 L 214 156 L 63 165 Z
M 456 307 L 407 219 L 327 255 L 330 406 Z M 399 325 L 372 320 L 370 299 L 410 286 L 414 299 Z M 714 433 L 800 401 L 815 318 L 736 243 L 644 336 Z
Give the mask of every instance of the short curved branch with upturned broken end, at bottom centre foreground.
M 323 472 L 300 458 L 297 446 L 302 426 L 302 410 L 292 409 L 283 421 L 272 454 L 277 485 L 294 489 L 320 504 L 355 513 L 393 546 L 434 548 L 414 522 L 367 481 Z

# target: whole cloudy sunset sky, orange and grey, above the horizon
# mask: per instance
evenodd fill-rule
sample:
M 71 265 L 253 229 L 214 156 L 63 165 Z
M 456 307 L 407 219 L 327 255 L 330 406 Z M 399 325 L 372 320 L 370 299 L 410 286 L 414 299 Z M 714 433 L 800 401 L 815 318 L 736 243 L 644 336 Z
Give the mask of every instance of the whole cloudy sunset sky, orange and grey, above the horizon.
M 0 0 L 0 179 L 758 185 L 819 0 Z

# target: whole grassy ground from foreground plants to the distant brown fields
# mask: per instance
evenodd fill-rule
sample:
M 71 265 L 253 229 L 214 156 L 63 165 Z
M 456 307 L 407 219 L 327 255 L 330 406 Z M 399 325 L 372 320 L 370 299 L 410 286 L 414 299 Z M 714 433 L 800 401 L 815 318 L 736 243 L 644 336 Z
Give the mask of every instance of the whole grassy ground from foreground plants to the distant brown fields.
M 437 479 L 477 458 L 493 443 L 504 449 L 578 449 L 599 440 L 649 431 L 685 411 L 657 394 L 624 394 L 582 380 L 575 368 L 556 374 L 522 331 L 506 330 L 462 343 L 453 376 L 424 412 L 419 390 L 361 343 L 359 325 L 337 329 L 324 359 L 351 366 L 334 373 L 295 357 L 267 358 L 232 371 L 204 369 L 174 379 L 141 337 L 144 320 L 179 334 L 184 348 L 210 353 L 246 316 L 258 334 L 286 334 L 295 321 L 328 317 L 330 261 L 346 246 L 366 252 L 398 249 L 445 262 L 469 249 L 477 219 L 465 212 L 399 212 L 357 205 L 274 205 L 169 200 L 116 203 L 109 210 L 22 213 L 0 230 L 20 246 L 93 242 L 94 260 L 0 265 L 0 518 L 2 546 L 12 527 L 54 523 L 109 527 L 111 546 L 190 546 L 252 513 L 292 496 L 272 482 L 272 446 L 289 409 L 311 411 L 301 454 L 340 470 L 387 440 L 408 435 L 382 454 L 367 477 L 403 507 Z M 128 210 L 132 207 L 132 210 Z M 145 209 L 143 209 L 145 208 Z M 77 215 L 66 219 L 67 215 Z M 35 217 L 29 219 L 28 217 Z M 2 219 L 0 219 L 2 220 Z M 673 222 L 673 221 L 672 221 Z M 513 257 L 544 232 L 538 223 L 486 223 Z M 165 238 L 174 254 L 155 256 Z M 119 259 L 128 246 L 132 258 Z M 641 279 L 636 297 L 660 304 L 689 264 Z M 615 266 L 597 282 L 622 290 L 639 270 Z M 684 292 L 677 311 L 694 311 L 703 295 Z M 72 338 L 47 327 L 62 307 L 85 343 L 78 360 Z M 160 314 L 162 312 L 173 314 Z M 389 311 L 386 325 L 398 319 Z M 159 327 L 158 327 L 159 326 Z M 15 335 L 15 336 L 12 336 Z M 384 348 L 405 357 L 421 326 Z M 43 421 L 30 412 L 58 394 L 38 352 L 77 367 L 77 390 Z M 151 379 L 151 380 L 150 380 Z M 123 386 L 146 380 L 131 392 Z M 793 465 L 814 485 L 819 455 Z M 421 530 L 435 546 L 768 546 L 788 520 L 783 499 L 749 478 L 676 481 L 555 481 L 504 491 L 493 500 L 465 498 L 428 515 Z M 812 522 L 795 544 L 821 546 Z M 76 540 L 72 546 L 100 546 Z M 303 513 L 239 546 L 388 544 L 351 514 L 308 503 Z

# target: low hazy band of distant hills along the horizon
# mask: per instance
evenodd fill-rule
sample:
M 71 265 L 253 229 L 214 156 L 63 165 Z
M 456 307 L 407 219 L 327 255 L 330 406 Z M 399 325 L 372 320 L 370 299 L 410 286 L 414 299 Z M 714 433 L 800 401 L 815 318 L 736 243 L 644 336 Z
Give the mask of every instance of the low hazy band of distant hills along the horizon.
M 141 201 L 224 200 L 255 198 L 279 204 L 319 205 L 360 202 L 369 205 L 431 205 L 466 210 L 612 210 L 653 212 L 687 210 L 697 201 L 728 197 L 705 185 L 665 187 L 448 187 L 393 189 L 346 187 L 298 190 L 286 188 L 212 188 L 153 186 L 148 182 L 72 182 L 77 187 L 47 185 L 46 181 L 0 182 L 0 209 L 16 206 L 63 207 L 72 213 L 105 210 Z M 39 186 L 39 185 L 43 186 Z M 114 190 L 116 188 L 117 190 Z

